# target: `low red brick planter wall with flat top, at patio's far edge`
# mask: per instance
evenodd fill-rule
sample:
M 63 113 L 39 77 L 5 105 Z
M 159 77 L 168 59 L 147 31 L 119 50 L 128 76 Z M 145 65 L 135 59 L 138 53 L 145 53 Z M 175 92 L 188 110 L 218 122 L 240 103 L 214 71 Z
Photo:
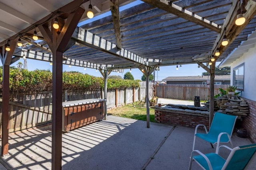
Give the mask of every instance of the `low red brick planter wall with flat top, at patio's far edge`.
M 206 111 L 193 111 L 182 109 L 165 109 L 165 107 L 154 107 L 155 121 L 171 125 L 181 125 L 185 127 L 196 127 L 198 124 L 206 125 L 209 129 L 209 113 Z

